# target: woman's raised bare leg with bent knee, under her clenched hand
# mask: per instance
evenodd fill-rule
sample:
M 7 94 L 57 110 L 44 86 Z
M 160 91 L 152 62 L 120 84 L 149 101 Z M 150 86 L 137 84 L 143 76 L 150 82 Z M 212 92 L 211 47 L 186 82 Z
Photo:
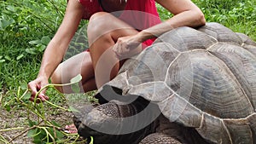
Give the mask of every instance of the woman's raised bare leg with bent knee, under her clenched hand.
M 135 35 L 137 30 L 112 14 L 100 12 L 91 16 L 87 33 L 96 86 L 99 88 L 119 72 L 119 60 L 110 48 L 119 37 Z M 140 52 L 141 48 L 134 51 Z

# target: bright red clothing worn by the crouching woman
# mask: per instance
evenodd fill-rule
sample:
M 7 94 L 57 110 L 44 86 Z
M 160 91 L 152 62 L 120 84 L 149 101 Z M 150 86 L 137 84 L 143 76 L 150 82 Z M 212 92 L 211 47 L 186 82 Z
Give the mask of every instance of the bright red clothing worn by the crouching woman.
M 86 20 L 89 20 L 92 14 L 103 11 L 98 0 L 78 1 L 84 6 L 84 19 Z M 133 26 L 138 31 L 147 29 L 161 22 L 154 0 L 127 0 L 125 10 L 120 14 L 119 19 Z M 154 39 L 148 39 L 143 43 L 148 46 L 153 42 Z M 143 46 L 143 48 L 146 46 Z

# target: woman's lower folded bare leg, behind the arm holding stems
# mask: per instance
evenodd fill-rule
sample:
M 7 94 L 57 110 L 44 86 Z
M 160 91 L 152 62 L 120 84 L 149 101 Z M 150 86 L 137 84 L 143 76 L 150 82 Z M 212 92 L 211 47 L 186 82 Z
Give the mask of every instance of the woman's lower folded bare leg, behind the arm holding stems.
M 51 77 L 53 84 L 67 84 L 70 83 L 70 79 L 74 78 L 78 74 L 82 75 L 82 82 L 80 83 L 81 92 L 88 92 L 96 89 L 96 83 L 94 79 L 94 70 L 88 51 L 84 51 L 78 55 L 62 62 L 55 70 Z M 56 87 L 62 93 L 72 93 L 72 89 L 68 87 Z

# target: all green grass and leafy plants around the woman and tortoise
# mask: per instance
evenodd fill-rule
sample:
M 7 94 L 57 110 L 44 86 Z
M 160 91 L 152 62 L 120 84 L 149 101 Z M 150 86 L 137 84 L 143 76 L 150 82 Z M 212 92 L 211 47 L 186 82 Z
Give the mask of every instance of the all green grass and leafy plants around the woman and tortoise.
M 245 33 L 256 40 L 256 0 L 193 0 L 193 2 L 202 9 L 208 22 L 221 23 L 234 32 Z M 45 135 L 55 134 L 57 139 L 51 137 L 49 141 L 61 141 L 59 138 L 62 138 L 63 135 L 54 132 L 54 128 L 60 128 L 59 124 L 51 121 L 48 124 L 51 127 L 44 130 L 40 126 L 41 121 L 37 119 L 38 115 L 27 114 L 31 111 L 28 112 L 28 108 L 23 104 L 29 103 L 26 84 L 36 78 L 38 74 L 44 49 L 61 23 L 66 3 L 66 0 L 0 0 L 0 111 L 10 112 L 5 120 L 15 118 L 17 113 L 20 117 L 29 119 L 23 120 L 24 124 L 12 124 L 13 121 L 2 122 L 0 116 L 0 123 L 6 123 L 0 124 L 0 143 L 9 141 L 7 135 L 1 135 L 3 131 L 27 130 L 31 127 L 35 129 L 31 129 L 28 136 L 35 137 L 36 134 L 41 133 L 45 137 Z M 158 9 L 162 20 L 172 16 L 159 5 Z M 84 21 L 80 27 L 84 26 L 86 22 Z M 83 36 L 85 39 L 85 34 Z M 83 45 L 82 42 L 75 37 L 71 45 L 76 45 L 77 48 L 78 45 Z M 79 50 L 73 49 L 67 57 L 78 53 Z M 67 107 L 65 98 L 55 90 L 47 90 L 47 95 L 52 104 Z M 24 99 L 20 99 L 20 96 L 23 96 Z M 29 107 L 35 108 L 35 106 Z M 43 108 L 41 105 L 38 107 Z M 61 113 L 59 108 L 52 108 L 49 103 L 44 103 L 44 109 L 50 109 L 50 111 L 43 115 Z M 38 139 L 42 138 L 40 137 L 42 135 L 38 135 Z M 10 137 L 14 136 L 16 135 Z

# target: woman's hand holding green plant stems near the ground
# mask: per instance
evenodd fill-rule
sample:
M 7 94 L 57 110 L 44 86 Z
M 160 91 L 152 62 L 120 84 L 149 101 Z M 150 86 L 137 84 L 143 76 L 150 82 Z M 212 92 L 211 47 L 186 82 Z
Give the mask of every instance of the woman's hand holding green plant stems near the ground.
M 44 85 L 49 84 L 48 83 L 48 78 L 44 78 L 44 77 L 38 77 L 37 79 L 33 80 L 32 82 L 30 82 L 27 86 L 28 89 L 31 90 L 32 95 L 31 98 L 29 99 L 30 101 L 34 101 L 35 96 L 38 94 L 38 91 L 40 89 L 42 89 L 44 87 Z M 37 97 L 37 103 L 41 102 L 41 101 L 47 101 L 49 100 L 49 97 L 46 96 L 45 94 L 45 90 L 43 90 L 40 94 L 38 94 Z M 41 101 L 40 101 L 41 100 Z

